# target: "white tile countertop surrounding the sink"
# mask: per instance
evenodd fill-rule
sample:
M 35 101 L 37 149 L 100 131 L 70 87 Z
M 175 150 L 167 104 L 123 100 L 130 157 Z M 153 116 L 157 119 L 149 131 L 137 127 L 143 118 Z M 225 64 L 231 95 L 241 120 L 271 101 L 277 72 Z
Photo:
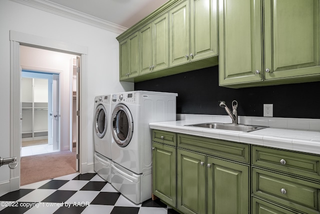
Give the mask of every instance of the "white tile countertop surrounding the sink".
M 227 116 L 228 117 L 228 116 Z M 185 120 L 155 122 L 150 123 L 151 129 L 158 129 L 164 131 L 171 131 L 176 133 L 191 134 L 196 136 L 203 136 L 221 140 L 229 140 L 234 142 L 249 143 L 261 146 L 269 146 L 273 148 L 288 149 L 293 151 L 308 152 L 313 154 L 320 154 L 320 130 L 295 129 L 290 127 L 272 127 L 259 129 L 256 131 L 242 132 L 230 131 L 222 129 L 210 129 L 185 126 L 196 123 L 218 122 L 230 123 L 225 116 L 209 116 L 209 117 L 182 117 Z M 248 119 L 248 118 L 245 118 Z M 274 118 L 272 118 L 274 119 Z M 242 122 L 241 122 L 242 120 Z M 261 120 L 261 119 L 260 119 Z M 287 120 L 287 119 L 284 119 Z M 319 121 L 310 119 L 311 123 L 318 124 Z M 261 125 L 243 123 L 244 119 L 239 118 L 239 123 L 247 125 Z M 252 120 L 251 120 L 252 121 Z M 268 124 L 264 124 L 264 126 Z M 306 122 L 304 127 L 306 126 Z M 316 125 L 317 127 L 317 125 Z

